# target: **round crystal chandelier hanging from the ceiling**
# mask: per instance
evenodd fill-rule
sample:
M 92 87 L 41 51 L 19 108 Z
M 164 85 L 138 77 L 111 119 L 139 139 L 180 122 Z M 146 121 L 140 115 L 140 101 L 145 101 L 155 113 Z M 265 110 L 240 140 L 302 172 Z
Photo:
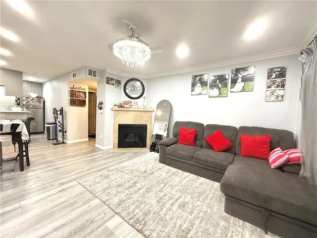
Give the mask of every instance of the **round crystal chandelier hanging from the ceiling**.
M 145 41 L 134 35 L 133 26 L 128 28 L 132 33 L 131 36 L 117 39 L 113 45 L 113 54 L 127 66 L 132 68 L 142 66 L 151 58 L 150 47 Z

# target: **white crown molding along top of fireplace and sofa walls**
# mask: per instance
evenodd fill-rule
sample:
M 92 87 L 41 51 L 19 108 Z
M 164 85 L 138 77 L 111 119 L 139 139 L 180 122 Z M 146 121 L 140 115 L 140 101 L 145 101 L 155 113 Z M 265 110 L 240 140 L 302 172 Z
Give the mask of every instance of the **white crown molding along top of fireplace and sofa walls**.
M 139 77 L 139 78 L 146 78 L 147 79 L 147 78 L 168 76 L 168 75 L 173 75 L 173 74 L 188 73 L 188 72 L 199 71 L 199 70 L 206 70 L 206 69 L 210 69 L 210 68 L 222 67 L 222 66 L 238 64 L 238 63 L 246 63 L 246 62 L 250 62 L 250 61 L 266 60 L 266 59 L 277 58 L 277 57 L 282 57 L 282 56 L 295 55 L 295 54 L 300 54 L 300 51 L 301 50 L 297 47 L 289 47 L 289 48 L 284 48 L 281 50 L 269 51 L 269 52 L 250 55 L 250 56 L 246 56 L 246 57 L 239 57 L 239 58 L 233 58 L 230 60 L 216 61 L 216 62 L 212 62 L 212 63 L 195 65 L 192 67 L 179 68 L 179 69 L 172 70 L 172 71 L 166 71 L 166 72 L 162 72 L 162 73 L 153 73 L 153 74 L 130 74 L 130 73 L 120 72 L 120 71 L 117 71 L 117 70 L 114 70 L 111 68 L 106 69 L 106 71 L 109 73 L 113 73 L 113 74 L 122 76 L 122 77 L 136 77 L 136 78 Z

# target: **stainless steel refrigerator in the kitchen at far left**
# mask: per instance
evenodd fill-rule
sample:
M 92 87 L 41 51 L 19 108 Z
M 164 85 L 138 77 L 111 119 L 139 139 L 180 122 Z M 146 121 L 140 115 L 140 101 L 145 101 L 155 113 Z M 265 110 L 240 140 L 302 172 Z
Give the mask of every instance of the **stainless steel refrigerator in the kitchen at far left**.
M 31 121 L 30 133 L 44 132 L 44 100 L 43 98 L 23 97 L 23 111 L 30 111 L 35 120 Z

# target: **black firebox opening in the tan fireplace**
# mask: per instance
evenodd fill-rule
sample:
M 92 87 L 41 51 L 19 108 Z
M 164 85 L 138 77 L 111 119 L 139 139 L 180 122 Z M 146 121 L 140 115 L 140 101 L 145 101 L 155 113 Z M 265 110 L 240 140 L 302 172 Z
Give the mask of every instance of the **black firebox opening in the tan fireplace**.
M 147 125 L 118 124 L 118 148 L 146 148 Z

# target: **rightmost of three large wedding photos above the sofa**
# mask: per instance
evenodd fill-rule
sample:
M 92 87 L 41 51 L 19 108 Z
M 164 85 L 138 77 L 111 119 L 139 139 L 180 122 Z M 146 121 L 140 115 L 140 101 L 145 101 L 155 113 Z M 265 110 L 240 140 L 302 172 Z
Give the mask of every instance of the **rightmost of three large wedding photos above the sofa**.
M 230 92 L 251 92 L 254 83 L 254 66 L 231 69 Z

